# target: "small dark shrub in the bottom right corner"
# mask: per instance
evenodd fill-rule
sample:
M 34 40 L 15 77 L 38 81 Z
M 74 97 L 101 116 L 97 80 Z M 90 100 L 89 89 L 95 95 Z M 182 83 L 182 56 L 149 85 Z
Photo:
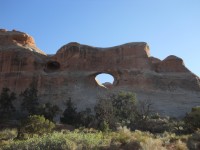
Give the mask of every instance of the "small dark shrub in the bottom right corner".
M 200 130 L 196 131 L 188 138 L 187 146 L 190 150 L 200 149 Z

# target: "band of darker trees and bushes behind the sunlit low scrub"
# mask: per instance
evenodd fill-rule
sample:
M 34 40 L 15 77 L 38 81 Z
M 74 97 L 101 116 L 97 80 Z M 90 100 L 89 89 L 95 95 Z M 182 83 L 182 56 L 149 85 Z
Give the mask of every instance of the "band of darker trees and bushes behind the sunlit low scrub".
M 53 121 L 54 117 L 61 112 L 57 105 L 51 103 L 39 104 L 37 89 L 31 84 L 20 96 L 21 117 L 20 120 L 28 119 L 30 116 L 40 115 Z M 8 88 L 3 88 L 0 94 L 0 119 L 1 123 L 12 121 L 15 107 L 12 102 L 16 94 Z M 200 128 L 200 107 L 192 108 L 182 120 L 169 117 L 160 117 L 153 113 L 152 103 L 149 101 L 137 102 L 136 96 L 131 92 L 121 91 L 118 94 L 110 94 L 100 97 L 94 107 L 94 112 L 87 108 L 77 112 L 71 98 L 66 103 L 66 109 L 60 118 L 63 124 L 72 125 L 75 128 L 94 128 L 101 131 L 115 131 L 119 126 L 127 126 L 131 130 L 149 131 L 151 133 L 173 132 L 176 134 L 194 133 Z M 25 111 L 25 112 L 24 112 Z M 10 117 L 12 116 L 12 117 Z

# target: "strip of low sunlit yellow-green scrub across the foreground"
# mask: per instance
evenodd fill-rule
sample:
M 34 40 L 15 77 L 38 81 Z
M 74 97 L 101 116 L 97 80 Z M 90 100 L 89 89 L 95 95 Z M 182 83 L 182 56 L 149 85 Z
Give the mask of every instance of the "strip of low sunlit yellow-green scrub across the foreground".
M 5 134 L 4 131 L 0 131 L 0 139 Z M 6 132 L 12 133 L 13 131 L 16 130 L 7 129 Z M 15 133 L 15 137 L 7 135 L 7 140 L 0 140 L 0 148 L 2 150 L 188 150 L 188 148 L 197 150 L 199 138 L 197 139 L 196 134 L 200 136 L 199 132 L 193 135 L 178 136 L 168 132 L 155 135 L 139 130 L 130 131 L 126 127 L 119 128 L 115 132 L 84 128 L 74 131 L 53 131 L 43 135 L 35 134 L 24 140 L 15 139 L 17 136 Z

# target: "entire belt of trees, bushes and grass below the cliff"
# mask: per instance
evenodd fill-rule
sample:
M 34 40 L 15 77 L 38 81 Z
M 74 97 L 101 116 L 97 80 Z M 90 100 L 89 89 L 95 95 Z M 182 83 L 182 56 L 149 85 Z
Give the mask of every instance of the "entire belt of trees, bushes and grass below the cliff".
M 63 123 L 60 128 L 53 122 L 61 112 L 59 107 L 39 104 L 35 86 L 31 85 L 20 96 L 23 115 L 16 120 L 15 128 L 0 130 L 0 149 L 200 149 L 200 107 L 192 108 L 182 120 L 177 120 L 159 116 L 153 112 L 151 102 L 138 102 L 130 92 L 99 98 L 94 112 L 89 108 L 77 112 L 69 98 L 60 118 Z M 4 88 L 0 112 L 14 112 L 15 99 L 16 95 Z M 9 121 L 8 116 L 1 114 L 0 125 Z M 76 129 L 69 131 L 68 125 Z

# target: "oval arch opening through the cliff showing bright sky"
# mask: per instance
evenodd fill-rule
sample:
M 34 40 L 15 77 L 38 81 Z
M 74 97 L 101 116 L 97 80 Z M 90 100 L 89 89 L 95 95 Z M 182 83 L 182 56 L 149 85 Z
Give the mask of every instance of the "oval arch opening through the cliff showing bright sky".
M 105 88 L 112 88 L 115 78 L 108 73 L 100 73 L 97 74 L 95 80 L 98 85 L 105 87 Z

